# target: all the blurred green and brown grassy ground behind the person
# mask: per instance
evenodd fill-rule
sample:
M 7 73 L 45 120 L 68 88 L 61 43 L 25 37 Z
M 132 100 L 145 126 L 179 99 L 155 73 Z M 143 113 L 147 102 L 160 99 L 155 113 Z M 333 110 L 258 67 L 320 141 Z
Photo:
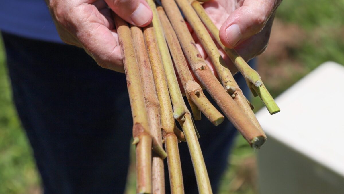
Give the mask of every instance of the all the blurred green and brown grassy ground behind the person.
M 258 72 L 273 97 L 322 62 L 344 64 L 344 0 L 284 0 L 278 8 L 269 46 L 258 57 Z M 263 106 L 259 98 L 252 104 Z M 264 149 L 264 146 L 263 146 Z M 258 191 L 255 152 L 238 136 L 220 194 Z M 132 178 L 129 178 L 133 185 Z M 135 181 L 135 180 L 134 180 Z M 128 193 L 131 193 L 129 186 Z M 135 187 L 134 187 L 135 189 Z M 0 40 L 0 194 L 40 194 L 39 173 L 11 99 L 6 58 Z

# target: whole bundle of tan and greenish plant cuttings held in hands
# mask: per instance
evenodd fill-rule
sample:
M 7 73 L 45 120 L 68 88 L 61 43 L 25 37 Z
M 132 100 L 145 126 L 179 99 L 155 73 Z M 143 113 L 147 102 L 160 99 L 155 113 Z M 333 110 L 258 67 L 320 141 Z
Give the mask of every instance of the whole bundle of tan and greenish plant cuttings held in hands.
M 236 69 L 245 77 L 254 96 L 262 99 L 270 114 L 277 113 L 279 108 L 258 73 L 234 49 L 225 48 L 221 43 L 219 30 L 200 2 L 162 0 L 162 7 L 157 7 L 153 0 L 147 2 L 152 9 L 153 20 L 143 29 L 129 26 L 114 14 L 133 117 L 137 193 L 165 193 L 163 159 L 166 157 L 171 193 L 184 193 L 178 142 L 186 141 L 198 191 L 209 194 L 212 189 L 193 119 L 201 119 L 202 112 L 209 122 L 221 127 L 226 117 L 252 148 L 264 144 L 266 135 L 252 111 L 253 107 L 234 80 Z M 210 57 L 219 79 L 195 46 L 181 12 Z M 236 69 L 228 67 L 207 29 Z M 205 97 L 201 85 L 192 74 L 225 117 Z M 183 100 L 177 75 L 192 114 Z

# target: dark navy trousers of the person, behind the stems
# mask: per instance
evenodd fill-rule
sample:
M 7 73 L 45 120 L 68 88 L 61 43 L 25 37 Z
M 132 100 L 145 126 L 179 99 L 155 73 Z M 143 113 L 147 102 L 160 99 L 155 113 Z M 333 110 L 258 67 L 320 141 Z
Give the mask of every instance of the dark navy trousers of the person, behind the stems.
M 44 193 L 123 193 L 132 132 L 125 75 L 97 66 L 73 46 L 2 35 L 14 102 Z M 217 127 L 205 117 L 195 124 L 216 193 L 236 130 L 227 119 Z M 179 148 L 185 193 L 197 193 L 186 143 Z M 169 193 L 167 164 L 165 173 Z

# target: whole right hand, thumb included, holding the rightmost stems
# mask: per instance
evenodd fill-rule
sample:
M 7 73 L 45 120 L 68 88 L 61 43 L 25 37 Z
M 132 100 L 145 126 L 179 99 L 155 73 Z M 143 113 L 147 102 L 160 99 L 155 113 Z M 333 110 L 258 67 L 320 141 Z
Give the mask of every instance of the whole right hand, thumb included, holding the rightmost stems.
M 246 60 L 265 51 L 276 8 L 281 0 L 211 0 L 203 7 L 215 25 L 219 36 L 228 48 L 235 48 Z M 232 61 L 224 54 L 228 65 Z M 201 54 L 207 55 L 201 49 Z

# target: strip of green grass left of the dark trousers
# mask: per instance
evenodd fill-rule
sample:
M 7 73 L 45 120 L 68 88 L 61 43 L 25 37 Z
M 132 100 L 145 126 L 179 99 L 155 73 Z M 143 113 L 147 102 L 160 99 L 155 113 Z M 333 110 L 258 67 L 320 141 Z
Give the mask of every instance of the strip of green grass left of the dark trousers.
M 40 180 L 11 99 L 1 40 L 0 45 L 0 193 L 33 193 Z

